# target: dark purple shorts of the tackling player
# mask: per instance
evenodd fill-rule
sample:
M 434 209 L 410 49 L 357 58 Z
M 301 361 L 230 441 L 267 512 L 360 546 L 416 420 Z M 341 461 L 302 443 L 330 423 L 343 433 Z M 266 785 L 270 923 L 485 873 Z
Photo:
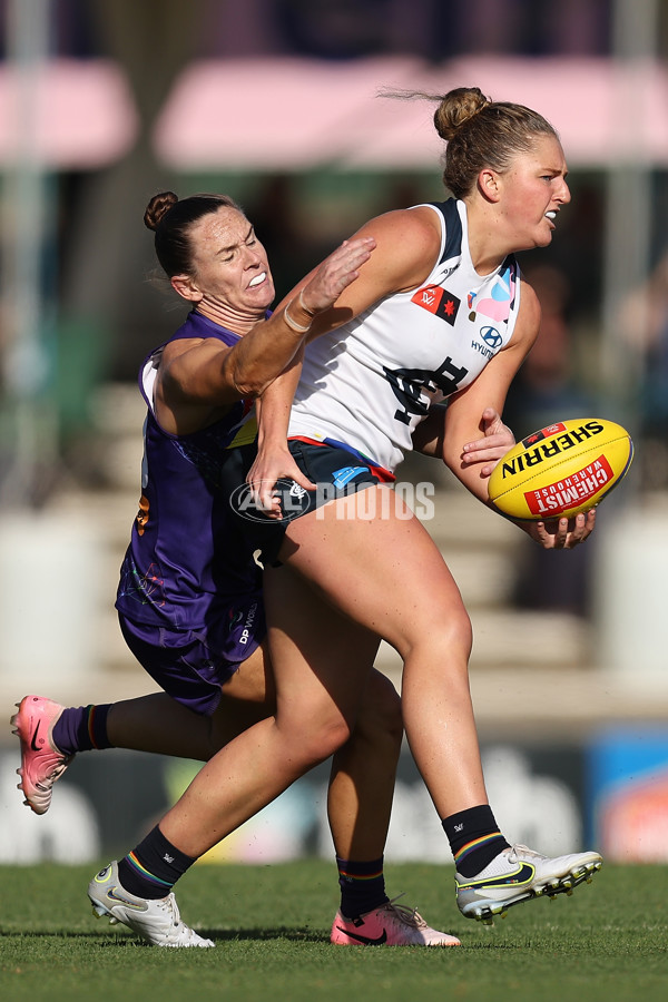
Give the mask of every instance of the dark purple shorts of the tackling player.
M 266 621 L 262 592 L 210 610 L 203 630 L 171 630 L 118 613 L 126 644 L 161 689 L 196 714 L 210 716 L 229 681 L 262 644 Z

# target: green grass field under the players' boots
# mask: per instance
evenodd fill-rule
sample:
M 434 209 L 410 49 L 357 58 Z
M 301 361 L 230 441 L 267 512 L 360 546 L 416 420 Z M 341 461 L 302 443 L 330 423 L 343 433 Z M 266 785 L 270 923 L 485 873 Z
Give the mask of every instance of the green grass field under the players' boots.
M 101 861 L 106 862 L 106 861 Z M 464 920 L 452 870 L 389 865 L 460 949 L 342 947 L 328 942 L 333 864 L 198 865 L 179 884 L 181 914 L 215 950 L 158 950 L 96 920 L 95 866 L 0 867 L 0 999 L 165 1002 L 568 1000 L 668 998 L 668 867 L 605 866 L 568 898 L 511 908 L 493 927 Z

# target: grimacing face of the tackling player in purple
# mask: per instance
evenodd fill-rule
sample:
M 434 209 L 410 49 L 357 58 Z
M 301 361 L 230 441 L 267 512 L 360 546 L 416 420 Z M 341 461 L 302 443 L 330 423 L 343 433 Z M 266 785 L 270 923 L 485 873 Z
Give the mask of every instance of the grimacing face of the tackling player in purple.
M 223 206 L 190 230 L 195 281 L 204 299 L 234 314 L 264 314 L 274 299 L 265 248 L 253 226 L 235 208 Z

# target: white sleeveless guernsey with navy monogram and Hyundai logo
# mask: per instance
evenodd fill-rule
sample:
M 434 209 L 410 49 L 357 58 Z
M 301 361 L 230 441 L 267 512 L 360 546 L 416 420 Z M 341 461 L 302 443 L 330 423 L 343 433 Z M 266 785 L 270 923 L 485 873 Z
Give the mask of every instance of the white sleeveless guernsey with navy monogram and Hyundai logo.
M 307 345 L 288 436 L 343 444 L 393 471 L 430 405 L 472 383 L 510 341 L 520 306 L 514 256 L 480 276 L 465 205 L 429 208 L 441 219 L 431 274 Z

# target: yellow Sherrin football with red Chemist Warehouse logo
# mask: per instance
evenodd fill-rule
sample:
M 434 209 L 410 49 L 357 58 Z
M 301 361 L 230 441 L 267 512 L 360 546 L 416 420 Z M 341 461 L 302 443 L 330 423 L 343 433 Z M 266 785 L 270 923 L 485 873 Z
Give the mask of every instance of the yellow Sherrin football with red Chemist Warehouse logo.
M 605 418 L 559 421 L 505 453 L 488 484 L 490 501 L 512 519 L 571 518 L 595 508 L 631 464 L 633 443 Z

